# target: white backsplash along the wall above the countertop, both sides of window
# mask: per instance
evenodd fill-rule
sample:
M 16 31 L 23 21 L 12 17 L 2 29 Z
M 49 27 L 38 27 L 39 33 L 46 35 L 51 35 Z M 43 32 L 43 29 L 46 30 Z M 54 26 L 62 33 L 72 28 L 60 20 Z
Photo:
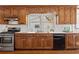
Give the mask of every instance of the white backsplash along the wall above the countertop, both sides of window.
M 78 31 L 78 29 L 75 29 L 75 25 L 52 25 L 50 24 L 51 26 L 48 27 L 42 27 L 42 31 L 43 32 L 49 32 L 51 29 L 54 31 L 54 32 L 62 32 L 64 30 L 65 27 L 70 27 L 70 31 Z M 31 30 L 32 27 L 28 27 L 28 25 L 0 25 L 0 32 L 4 31 L 6 29 L 6 26 L 7 27 L 20 27 L 21 28 L 21 32 L 36 32 L 36 29 L 33 29 Z

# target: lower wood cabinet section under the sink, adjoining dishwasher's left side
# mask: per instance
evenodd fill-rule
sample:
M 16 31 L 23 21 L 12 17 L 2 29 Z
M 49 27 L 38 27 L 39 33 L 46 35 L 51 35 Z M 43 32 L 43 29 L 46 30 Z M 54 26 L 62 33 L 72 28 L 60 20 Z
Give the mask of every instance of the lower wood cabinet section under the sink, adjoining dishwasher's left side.
M 36 49 L 52 49 L 53 36 L 50 34 L 37 34 L 33 39 L 33 48 Z

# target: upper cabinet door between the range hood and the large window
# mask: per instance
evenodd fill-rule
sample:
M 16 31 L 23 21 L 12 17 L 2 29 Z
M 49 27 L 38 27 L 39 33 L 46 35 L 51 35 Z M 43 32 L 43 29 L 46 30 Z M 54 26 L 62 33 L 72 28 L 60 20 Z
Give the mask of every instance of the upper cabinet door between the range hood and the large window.
M 19 24 L 26 24 L 26 8 L 19 8 Z

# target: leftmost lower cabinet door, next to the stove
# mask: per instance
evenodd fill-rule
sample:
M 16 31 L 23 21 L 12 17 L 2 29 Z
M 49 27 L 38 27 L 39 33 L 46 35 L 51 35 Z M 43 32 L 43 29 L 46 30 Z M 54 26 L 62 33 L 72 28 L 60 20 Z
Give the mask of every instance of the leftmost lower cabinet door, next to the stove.
M 24 49 L 24 40 L 21 37 L 15 37 L 15 48 L 16 49 Z

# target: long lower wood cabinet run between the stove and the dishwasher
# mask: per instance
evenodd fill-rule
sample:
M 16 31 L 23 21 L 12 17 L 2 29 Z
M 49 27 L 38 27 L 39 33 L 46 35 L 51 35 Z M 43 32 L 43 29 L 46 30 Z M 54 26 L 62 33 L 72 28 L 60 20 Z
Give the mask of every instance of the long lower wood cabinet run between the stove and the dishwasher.
M 51 34 L 15 34 L 15 48 L 52 49 L 53 37 Z

